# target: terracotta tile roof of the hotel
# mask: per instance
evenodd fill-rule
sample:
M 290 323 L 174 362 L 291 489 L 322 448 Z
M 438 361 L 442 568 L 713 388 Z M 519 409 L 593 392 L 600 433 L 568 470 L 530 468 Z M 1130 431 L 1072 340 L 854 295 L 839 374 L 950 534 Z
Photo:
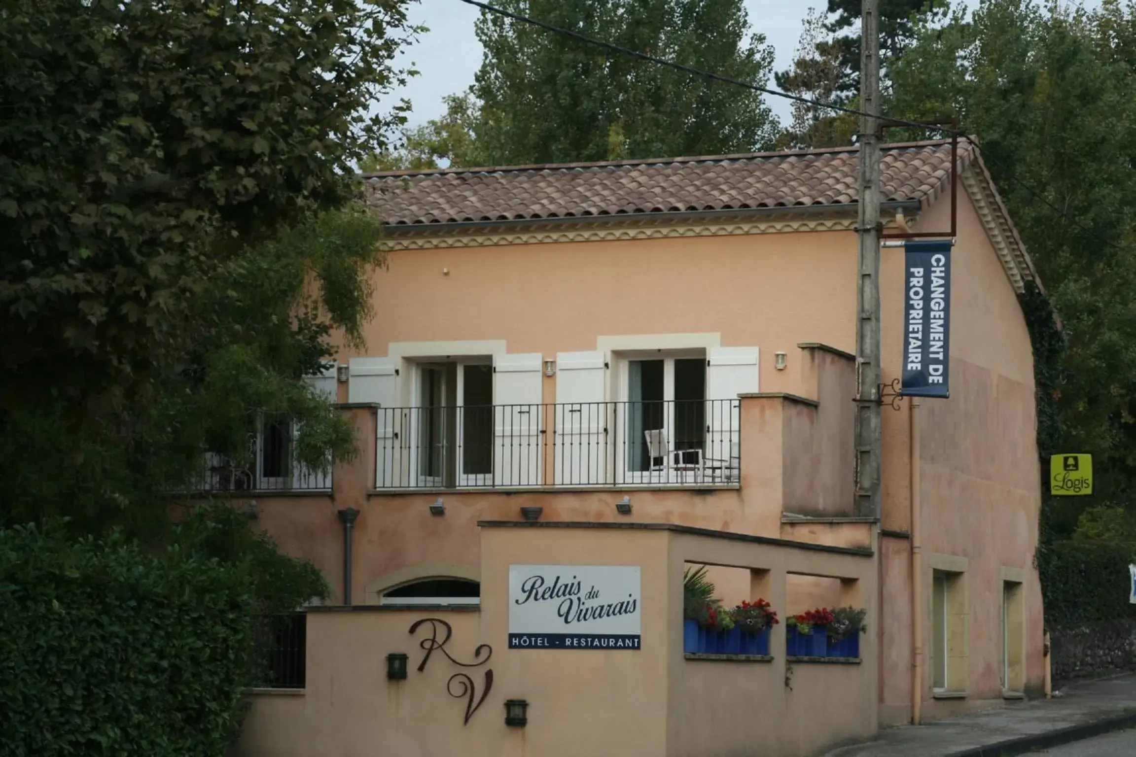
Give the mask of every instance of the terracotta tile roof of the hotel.
M 959 143 L 960 168 L 975 154 Z M 389 225 L 566 219 L 857 201 L 858 150 L 766 152 L 364 175 Z M 951 144 L 886 145 L 883 200 L 933 202 L 949 186 Z

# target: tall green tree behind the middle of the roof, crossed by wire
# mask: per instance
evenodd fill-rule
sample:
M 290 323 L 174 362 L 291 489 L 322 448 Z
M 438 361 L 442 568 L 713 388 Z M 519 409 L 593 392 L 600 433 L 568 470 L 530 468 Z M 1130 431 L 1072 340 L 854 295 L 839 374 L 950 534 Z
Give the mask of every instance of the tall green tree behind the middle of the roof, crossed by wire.
M 772 49 L 741 0 L 506 0 L 502 7 L 633 50 L 757 84 Z M 476 24 L 476 161 L 490 165 L 711 154 L 772 143 L 760 94 L 607 53 L 500 15 Z M 453 153 L 451 153 L 453 154 Z

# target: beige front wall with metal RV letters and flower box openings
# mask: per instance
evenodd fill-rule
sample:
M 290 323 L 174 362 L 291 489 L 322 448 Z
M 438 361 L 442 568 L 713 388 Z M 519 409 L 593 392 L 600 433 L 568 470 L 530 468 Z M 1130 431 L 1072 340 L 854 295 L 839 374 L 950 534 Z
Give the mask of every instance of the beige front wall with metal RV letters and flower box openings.
M 483 523 L 481 535 L 478 609 L 311 609 L 307 689 L 253 693 L 236 755 L 805 757 L 875 733 L 874 634 L 861 658 L 833 664 L 790 663 L 784 625 L 760 661 L 694 659 L 683 649 L 687 562 L 755 571 L 782 616 L 788 574 L 843 579 L 871 626 L 869 550 L 640 523 Z M 641 645 L 510 649 L 517 564 L 638 566 Z M 408 655 L 406 680 L 387 680 L 392 653 Z M 526 725 L 504 722 L 507 699 L 527 701 Z

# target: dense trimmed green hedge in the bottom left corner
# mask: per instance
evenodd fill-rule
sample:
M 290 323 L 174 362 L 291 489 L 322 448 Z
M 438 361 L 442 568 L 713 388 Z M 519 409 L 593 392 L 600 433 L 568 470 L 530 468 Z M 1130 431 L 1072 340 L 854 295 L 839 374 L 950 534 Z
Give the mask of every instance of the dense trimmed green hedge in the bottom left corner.
M 0 529 L 0 754 L 225 754 L 251 644 L 247 572 L 125 539 Z

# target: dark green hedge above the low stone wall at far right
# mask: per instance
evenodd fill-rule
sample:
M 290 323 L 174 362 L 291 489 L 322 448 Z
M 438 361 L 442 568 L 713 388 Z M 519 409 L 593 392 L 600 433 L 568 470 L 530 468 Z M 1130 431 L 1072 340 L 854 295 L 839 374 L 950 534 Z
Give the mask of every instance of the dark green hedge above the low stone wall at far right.
M 1133 546 L 1058 541 L 1037 550 L 1045 621 L 1075 625 L 1136 617 L 1128 604 L 1128 564 Z

